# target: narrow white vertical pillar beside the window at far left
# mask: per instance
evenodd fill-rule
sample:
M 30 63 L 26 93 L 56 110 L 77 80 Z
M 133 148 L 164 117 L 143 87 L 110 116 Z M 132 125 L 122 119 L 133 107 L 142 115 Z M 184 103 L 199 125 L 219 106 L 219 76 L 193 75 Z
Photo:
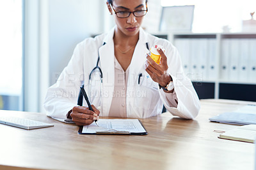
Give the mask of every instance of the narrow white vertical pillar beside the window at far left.
M 36 112 L 39 107 L 39 1 L 24 1 L 24 111 Z

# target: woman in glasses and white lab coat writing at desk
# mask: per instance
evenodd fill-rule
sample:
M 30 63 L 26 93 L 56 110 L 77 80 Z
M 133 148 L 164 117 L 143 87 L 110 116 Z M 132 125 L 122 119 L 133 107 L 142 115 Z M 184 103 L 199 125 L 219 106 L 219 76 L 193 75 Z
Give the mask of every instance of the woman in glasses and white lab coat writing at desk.
M 164 105 L 175 116 L 195 118 L 200 102 L 184 75 L 179 52 L 172 43 L 145 33 L 140 27 L 148 10 L 147 0 L 108 0 L 107 6 L 116 26 L 109 33 L 86 38 L 76 46 L 58 81 L 47 91 L 47 115 L 90 125 L 98 115 L 156 116 Z M 155 44 L 165 49 L 158 50 L 159 65 L 148 56 L 149 47 Z M 77 105 L 82 84 L 93 111 L 86 102 L 84 107 Z

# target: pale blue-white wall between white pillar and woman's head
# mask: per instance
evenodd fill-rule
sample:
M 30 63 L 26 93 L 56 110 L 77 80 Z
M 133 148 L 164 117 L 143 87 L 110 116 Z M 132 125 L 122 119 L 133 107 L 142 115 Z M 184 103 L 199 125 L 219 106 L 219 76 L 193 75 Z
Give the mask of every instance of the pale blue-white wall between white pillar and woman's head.
M 103 0 L 49 1 L 49 78 L 54 84 L 76 44 L 104 31 Z

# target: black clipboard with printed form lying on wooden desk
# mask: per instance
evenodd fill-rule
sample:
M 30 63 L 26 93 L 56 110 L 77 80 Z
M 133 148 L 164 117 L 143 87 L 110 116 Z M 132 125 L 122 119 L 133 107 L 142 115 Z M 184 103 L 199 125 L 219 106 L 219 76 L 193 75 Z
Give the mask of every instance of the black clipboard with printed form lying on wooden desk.
M 77 134 L 82 135 L 147 135 L 147 130 L 136 119 L 100 119 L 99 127 L 92 123 L 81 126 Z

